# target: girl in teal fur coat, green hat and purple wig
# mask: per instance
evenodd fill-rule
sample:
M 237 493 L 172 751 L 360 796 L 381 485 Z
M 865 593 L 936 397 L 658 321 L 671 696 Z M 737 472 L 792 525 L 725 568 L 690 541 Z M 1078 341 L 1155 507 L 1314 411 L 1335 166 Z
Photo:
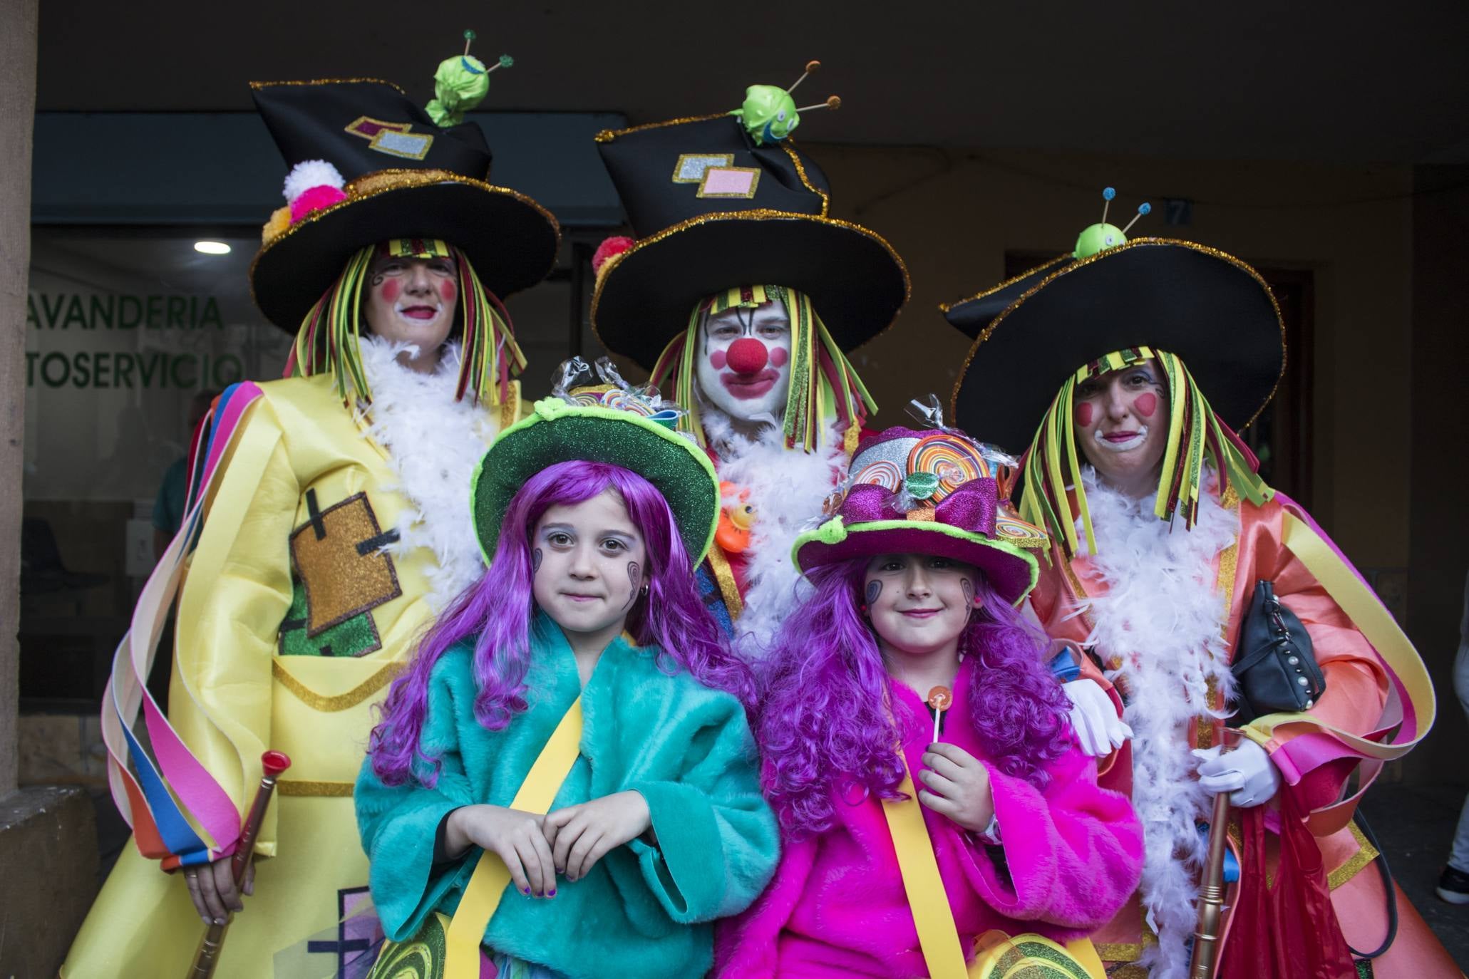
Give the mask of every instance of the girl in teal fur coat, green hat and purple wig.
M 373 901 L 400 942 L 375 975 L 407 958 L 439 975 L 433 911 L 455 911 L 491 851 L 511 882 L 482 975 L 701 976 L 711 923 L 779 860 L 754 678 L 693 592 L 712 468 L 654 421 L 552 398 L 491 448 L 474 495 L 491 567 L 394 683 L 357 781 Z M 549 812 L 510 809 L 579 696 Z

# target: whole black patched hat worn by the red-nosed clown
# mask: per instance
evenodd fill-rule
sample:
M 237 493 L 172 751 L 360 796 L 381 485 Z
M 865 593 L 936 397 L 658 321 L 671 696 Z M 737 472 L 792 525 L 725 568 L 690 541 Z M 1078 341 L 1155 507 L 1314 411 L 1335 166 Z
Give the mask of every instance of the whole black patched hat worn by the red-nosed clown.
M 755 145 L 733 116 L 596 137 L 636 244 L 608 260 L 592 329 L 652 367 L 704 298 L 743 285 L 799 289 L 843 351 L 892 324 L 908 269 L 880 235 L 827 217 L 826 175 L 790 141 Z

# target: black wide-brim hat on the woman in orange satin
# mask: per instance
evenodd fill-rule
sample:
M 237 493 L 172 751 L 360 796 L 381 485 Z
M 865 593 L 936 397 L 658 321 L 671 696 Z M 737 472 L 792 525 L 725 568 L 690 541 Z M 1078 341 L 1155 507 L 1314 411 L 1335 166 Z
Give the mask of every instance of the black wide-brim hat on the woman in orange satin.
M 1265 279 L 1232 255 L 1137 238 L 1012 283 L 1028 276 L 970 348 L 950 401 L 961 429 L 1024 452 L 1068 376 L 1134 346 L 1178 355 L 1234 430 L 1275 393 L 1285 368 L 1279 307 Z M 945 316 L 965 329 L 961 323 L 980 321 L 993 292 L 950 304 Z

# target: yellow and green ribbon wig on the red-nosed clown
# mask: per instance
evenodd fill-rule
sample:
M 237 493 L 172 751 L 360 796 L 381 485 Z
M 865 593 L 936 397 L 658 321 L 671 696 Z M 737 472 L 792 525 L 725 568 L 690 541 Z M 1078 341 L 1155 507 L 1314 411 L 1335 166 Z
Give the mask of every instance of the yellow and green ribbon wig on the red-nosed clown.
M 856 376 L 846 354 L 831 339 L 811 296 L 787 286 L 737 286 L 704 299 L 689 314 L 689 327 L 679 333 L 658 355 L 651 383 L 673 390 L 673 401 L 687 414 L 679 424 L 704 442 L 699 418 L 699 398 L 695 392 L 698 370 L 693 358 L 699 349 L 699 330 L 715 313 L 734 307 L 755 308 L 765 302 L 780 302 L 790 317 L 790 393 L 786 396 L 783 432 L 786 446 L 814 451 L 821 443 L 821 430 L 839 424 L 846 451 L 856 448 L 862 423 L 877 411 L 867 386 Z

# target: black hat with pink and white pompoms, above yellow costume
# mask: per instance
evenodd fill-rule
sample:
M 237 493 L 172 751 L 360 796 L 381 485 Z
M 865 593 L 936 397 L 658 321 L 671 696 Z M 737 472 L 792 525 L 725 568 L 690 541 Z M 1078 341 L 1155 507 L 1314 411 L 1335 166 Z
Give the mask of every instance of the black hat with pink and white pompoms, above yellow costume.
M 560 225 L 530 197 L 488 182 L 492 157 L 477 125 L 436 126 L 397 85 L 372 79 L 253 90 L 288 167 L 326 160 L 345 179 L 345 200 L 269 238 L 250 266 L 256 305 L 276 326 L 294 333 L 347 260 L 388 238 L 458 247 L 499 298 L 555 266 Z M 383 129 L 401 135 L 372 138 Z

